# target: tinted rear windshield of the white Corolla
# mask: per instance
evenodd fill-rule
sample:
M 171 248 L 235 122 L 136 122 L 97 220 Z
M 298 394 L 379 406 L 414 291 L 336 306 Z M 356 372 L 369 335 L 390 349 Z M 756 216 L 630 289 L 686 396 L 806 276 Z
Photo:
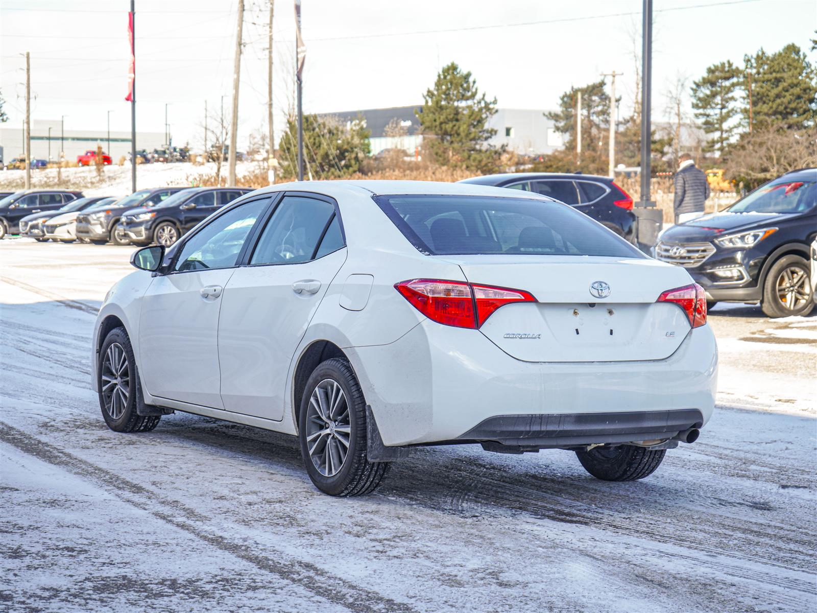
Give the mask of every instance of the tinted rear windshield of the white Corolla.
M 644 257 L 573 208 L 550 200 L 454 195 L 375 198 L 422 253 Z

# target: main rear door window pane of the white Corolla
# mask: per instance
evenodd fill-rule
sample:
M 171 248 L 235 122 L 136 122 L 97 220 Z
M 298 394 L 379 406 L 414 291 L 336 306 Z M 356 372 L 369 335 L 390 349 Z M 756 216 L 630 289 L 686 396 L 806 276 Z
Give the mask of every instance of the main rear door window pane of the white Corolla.
M 309 262 L 334 213 L 324 200 L 286 196 L 261 233 L 250 264 Z

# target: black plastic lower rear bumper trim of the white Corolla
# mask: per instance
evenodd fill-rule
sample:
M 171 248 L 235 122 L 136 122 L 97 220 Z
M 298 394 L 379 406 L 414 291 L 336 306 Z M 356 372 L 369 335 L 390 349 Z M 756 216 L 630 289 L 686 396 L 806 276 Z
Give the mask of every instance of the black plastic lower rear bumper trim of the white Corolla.
M 701 427 L 699 409 L 577 414 L 498 415 L 484 419 L 453 442 L 556 448 L 672 438 Z

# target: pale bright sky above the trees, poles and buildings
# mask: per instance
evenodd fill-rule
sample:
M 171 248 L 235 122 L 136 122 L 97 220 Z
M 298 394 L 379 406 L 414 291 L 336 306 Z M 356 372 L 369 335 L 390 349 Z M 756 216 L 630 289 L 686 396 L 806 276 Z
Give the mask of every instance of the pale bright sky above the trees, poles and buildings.
M 204 101 L 230 108 L 237 0 L 136 0 L 137 129 L 163 132 L 165 103 L 174 144 L 201 145 Z M 239 148 L 266 118 L 267 0 L 245 0 Z M 294 17 L 275 2 L 276 132 L 292 100 Z M 32 119 L 66 129 L 130 129 L 128 0 L 0 0 L 0 91 L 13 126 L 25 110 L 31 54 Z M 307 46 L 304 111 L 422 103 L 450 61 L 506 108 L 552 109 L 571 85 L 623 72 L 621 115 L 632 107 L 633 40 L 641 45 L 641 0 L 303 0 Z M 817 28 L 814 0 L 655 0 L 654 120 L 676 75 L 699 78 L 710 64 L 759 47 L 797 43 Z M 817 63 L 815 53 L 810 61 Z M 265 128 L 266 129 L 266 128 Z M 279 136 L 276 136 L 276 140 Z

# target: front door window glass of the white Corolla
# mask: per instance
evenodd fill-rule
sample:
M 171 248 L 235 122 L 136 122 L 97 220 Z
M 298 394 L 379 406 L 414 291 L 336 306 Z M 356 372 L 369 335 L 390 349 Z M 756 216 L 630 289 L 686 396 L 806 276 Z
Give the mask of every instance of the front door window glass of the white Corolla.
M 210 221 L 185 242 L 173 270 L 203 271 L 235 266 L 244 240 L 267 203 L 266 199 L 253 200 Z

